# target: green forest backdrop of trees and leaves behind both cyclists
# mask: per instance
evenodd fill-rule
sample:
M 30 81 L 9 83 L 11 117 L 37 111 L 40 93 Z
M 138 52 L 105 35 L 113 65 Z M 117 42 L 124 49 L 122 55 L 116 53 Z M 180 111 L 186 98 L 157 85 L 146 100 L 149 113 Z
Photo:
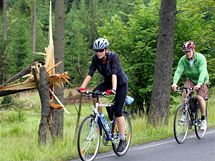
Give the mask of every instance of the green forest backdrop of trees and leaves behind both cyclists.
M 1 1 L 1 82 L 3 75 L 9 78 L 33 61 L 40 60 L 37 52 L 43 52 L 45 45 L 48 44 L 49 1 L 35 1 L 35 33 L 32 32 L 32 2 L 8 0 L 7 54 L 4 57 L 3 1 Z M 94 54 L 93 41 L 98 37 L 106 37 L 110 41 L 111 50 L 119 54 L 128 74 L 129 92 L 139 100 L 137 101 L 139 108 L 143 103 L 146 107 L 149 106 L 157 50 L 160 1 L 65 0 L 64 3 L 64 70 L 69 72 L 72 87 L 79 86 L 88 72 Z M 193 40 L 196 43 L 196 51 L 203 53 L 207 58 L 211 86 L 215 85 L 214 11 L 213 0 L 177 1 L 172 67 L 174 71 L 183 54 L 182 44 L 187 40 Z M 36 35 L 34 50 L 32 50 L 33 34 Z M 4 61 L 6 70 L 2 68 Z M 99 79 L 99 76 L 95 77 L 92 86 Z

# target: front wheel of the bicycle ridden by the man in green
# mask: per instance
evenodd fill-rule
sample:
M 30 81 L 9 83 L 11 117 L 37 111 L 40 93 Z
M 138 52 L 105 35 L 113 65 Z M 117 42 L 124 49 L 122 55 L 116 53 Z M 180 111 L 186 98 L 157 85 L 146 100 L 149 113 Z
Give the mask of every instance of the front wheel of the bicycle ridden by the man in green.
M 186 114 L 186 119 L 181 120 L 183 113 Z M 181 144 L 185 141 L 188 133 L 189 121 L 188 121 L 188 111 L 184 111 L 183 105 L 180 105 L 175 112 L 174 117 L 174 137 L 177 143 Z

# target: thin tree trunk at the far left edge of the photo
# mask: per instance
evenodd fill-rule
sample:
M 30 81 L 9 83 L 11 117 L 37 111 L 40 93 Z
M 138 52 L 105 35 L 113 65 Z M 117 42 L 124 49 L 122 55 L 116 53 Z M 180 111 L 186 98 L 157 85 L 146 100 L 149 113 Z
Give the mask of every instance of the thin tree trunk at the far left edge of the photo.
M 7 80 L 7 0 L 3 0 L 2 83 Z

